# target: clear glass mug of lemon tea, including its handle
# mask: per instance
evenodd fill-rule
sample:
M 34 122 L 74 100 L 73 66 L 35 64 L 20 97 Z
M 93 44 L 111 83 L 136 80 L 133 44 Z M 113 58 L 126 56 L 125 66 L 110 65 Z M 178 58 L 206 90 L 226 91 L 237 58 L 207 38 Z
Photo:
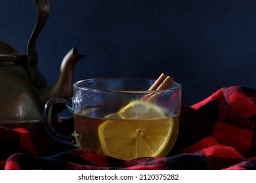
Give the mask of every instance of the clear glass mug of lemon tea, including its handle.
M 54 95 L 45 105 L 45 127 L 58 142 L 118 159 L 167 156 L 179 131 L 181 84 L 148 91 L 156 80 L 96 78 L 74 83 L 73 97 Z M 64 103 L 74 114 L 74 133 L 53 128 L 51 110 Z

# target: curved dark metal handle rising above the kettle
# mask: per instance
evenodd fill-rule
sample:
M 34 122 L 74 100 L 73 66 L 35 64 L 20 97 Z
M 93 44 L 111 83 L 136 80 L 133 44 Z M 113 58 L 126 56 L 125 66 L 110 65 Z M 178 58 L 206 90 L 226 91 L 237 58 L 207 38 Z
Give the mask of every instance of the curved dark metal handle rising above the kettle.
M 47 82 L 37 67 L 37 52 L 35 51 L 36 39 L 43 29 L 50 12 L 50 4 L 48 0 L 34 0 L 37 7 L 37 22 L 33 29 L 30 40 L 28 41 L 28 73 L 33 84 L 39 87 L 47 86 Z

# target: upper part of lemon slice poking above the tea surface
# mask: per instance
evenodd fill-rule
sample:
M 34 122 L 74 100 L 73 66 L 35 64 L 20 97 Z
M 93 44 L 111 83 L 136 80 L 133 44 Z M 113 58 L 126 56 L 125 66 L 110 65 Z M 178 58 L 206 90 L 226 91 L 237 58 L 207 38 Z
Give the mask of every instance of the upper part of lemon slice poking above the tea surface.
M 121 118 L 126 120 L 152 120 L 156 118 L 165 118 L 165 112 L 161 107 L 141 100 L 131 101 L 117 113 Z

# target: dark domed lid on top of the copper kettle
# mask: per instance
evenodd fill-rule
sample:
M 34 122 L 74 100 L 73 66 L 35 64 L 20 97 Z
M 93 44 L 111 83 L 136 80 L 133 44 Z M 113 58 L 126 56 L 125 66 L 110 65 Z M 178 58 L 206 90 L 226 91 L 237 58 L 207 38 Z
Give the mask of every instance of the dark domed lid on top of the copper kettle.
M 22 54 L 6 42 L 0 41 L 0 61 L 18 61 L 24 59 L 28 59 L 28 55 Z

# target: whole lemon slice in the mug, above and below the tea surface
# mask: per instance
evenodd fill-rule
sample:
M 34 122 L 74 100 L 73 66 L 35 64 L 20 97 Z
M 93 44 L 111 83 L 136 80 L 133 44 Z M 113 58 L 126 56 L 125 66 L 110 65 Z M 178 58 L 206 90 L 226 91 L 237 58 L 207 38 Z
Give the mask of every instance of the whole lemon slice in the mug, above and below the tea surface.
M 128 120 L 106 120 L 98 127 L 104 154 L 124 160 L 165 154 L 173 129 L 173 118 L 167 118 L 160 107 L 151 103 L 148 105 L 144 101 L 132 101 L 119 111 Z M 137 107 L 136 111 L 141 110 L 135 112 L 136 118 L 130 116 L 135 111 L 133 107 Z

